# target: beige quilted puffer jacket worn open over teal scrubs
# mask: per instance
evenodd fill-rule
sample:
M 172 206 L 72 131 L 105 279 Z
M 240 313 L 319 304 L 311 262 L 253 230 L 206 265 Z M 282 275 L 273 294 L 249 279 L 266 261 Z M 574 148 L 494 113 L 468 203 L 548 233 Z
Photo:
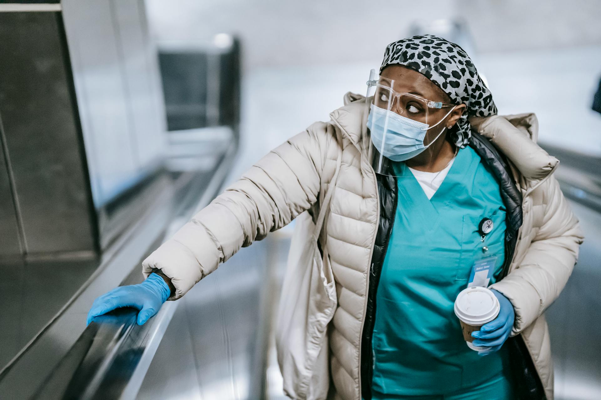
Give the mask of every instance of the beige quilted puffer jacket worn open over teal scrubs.
M 355 100 L 355 101 L 353 101 Z M 175 295 L 186 291 L 241 246 L 263 239 L 316 204 L 342 161 L 326 220 L 329 261 L 338 305 L 329 329 L 332 390 L 336 399 L 360 400 L 359 356 L 368 270 L 379 222 L 376 176 L 361 157 L 365 101 L 347 94 L 345 106 L 257 162 L 143 263 L 171 278 Z M 578 219 L 551 174 L 558 160 L 535 144 L 533 114 L 472 119 L 472 126 L 504 153 L 523 195 L 523 225 L 509 273 L 493 285 L 514 306 L 513 335 L 521 334 L 546 395 L 553 399 L 553 367 L 543 313 L 557 299 L 578 258 Z M 290 379 L 291 377 L 284 377 Z

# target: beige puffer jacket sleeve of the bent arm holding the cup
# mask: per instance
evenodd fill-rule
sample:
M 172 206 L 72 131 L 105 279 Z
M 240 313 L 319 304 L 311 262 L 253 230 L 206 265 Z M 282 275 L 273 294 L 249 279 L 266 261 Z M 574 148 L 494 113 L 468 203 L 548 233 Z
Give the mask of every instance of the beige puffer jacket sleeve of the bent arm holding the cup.
M 557 299 L 578 260 L 584 235 L 553 176 L 535 190 L 543 190 L 542 225 L 538 227 L 521 263 L 493 284 L 513 305 L 517 335 Z

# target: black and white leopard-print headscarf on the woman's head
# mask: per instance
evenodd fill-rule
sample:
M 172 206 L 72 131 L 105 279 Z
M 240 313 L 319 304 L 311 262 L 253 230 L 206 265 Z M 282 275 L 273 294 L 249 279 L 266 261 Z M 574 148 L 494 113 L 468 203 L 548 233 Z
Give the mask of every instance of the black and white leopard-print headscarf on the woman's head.
M 465 148 L 472 136 L 468 116 L 496 114 L 492 93 L 484 85 L 467 53 L 455 43 L 434 35 L 413 36 L 386 46 L 380 74 L 388 65 L 400 64 L 418 71 L 441 88 L 453 103 L 465 103 L 451 140 Z

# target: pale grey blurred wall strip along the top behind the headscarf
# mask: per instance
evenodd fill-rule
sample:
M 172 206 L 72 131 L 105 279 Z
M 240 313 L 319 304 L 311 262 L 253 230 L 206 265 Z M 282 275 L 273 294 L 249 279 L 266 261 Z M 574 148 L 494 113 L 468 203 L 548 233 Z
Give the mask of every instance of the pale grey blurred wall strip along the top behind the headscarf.
M 240 35 L 251 70 L 380 62 L 413 22 L 436 19 L 465 19 L 482 53 L 601 44 L 600 6 L 590 0 L 147 0 L 147 7 L 159 40 Z

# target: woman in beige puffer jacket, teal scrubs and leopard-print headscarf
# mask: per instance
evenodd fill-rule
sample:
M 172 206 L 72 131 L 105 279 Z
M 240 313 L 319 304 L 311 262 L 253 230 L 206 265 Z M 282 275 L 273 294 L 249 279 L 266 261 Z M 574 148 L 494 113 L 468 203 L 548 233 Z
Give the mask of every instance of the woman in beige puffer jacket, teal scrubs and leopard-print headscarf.
M 468 55 L 433 35 L 389 44 L 368 86 L 258 161 L 144 261 L 146 281 L 100 296 L 88 321 L 134 306 L 144 323 L 240 246 L 316 216 L 337 176 L 320 241 L 336 288 L 328 398 L 551 400 L 543 313 L 583 237 L 534 115 L 497 116 Z M 453 303 L 483 257 L 501 310 L 473 333 L 474 351 Z M 325 398 L 307 379 L 284 375 L 288 395 Z

